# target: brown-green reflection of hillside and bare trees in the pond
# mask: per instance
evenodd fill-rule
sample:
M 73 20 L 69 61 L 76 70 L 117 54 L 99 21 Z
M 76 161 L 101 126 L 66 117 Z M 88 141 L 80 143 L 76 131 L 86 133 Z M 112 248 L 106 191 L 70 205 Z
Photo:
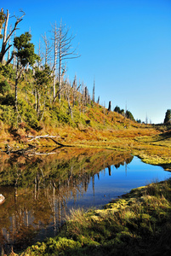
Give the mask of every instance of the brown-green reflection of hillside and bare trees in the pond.
M 10 158 L 3 161 L 0 183 L 13 188 L 9 193 L 5 189 L 3 192 L 7 200 L 1 207 L 0 230 L 5 230 L 4 236 L 0 235 L 1 244 L 7 244 L 9 239 L 14 247 L 28 246 L 38 230 L 49 225 L 54 227 L 55 236 L 69 212 L 68 201 L 77 201 L 90 181 L 94 191 L 94 175 L 100 177 L 102 169 L 108 167 L 111 175 L 111 165 L 130 161 L 129 154 L 111 150 L 68 150 L 58 151 L 54 157 L 34 156 L 29 160 L 21 156 L 15 162 Z

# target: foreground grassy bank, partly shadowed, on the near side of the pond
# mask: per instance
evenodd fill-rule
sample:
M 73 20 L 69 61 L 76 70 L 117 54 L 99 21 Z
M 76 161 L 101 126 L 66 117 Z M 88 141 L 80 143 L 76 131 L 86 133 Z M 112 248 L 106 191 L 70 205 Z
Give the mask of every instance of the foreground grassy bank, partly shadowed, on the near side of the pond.
M 60 234 L 26 255 L 169 255 L 171 180 L 132 189 L 104 209 L 71 212 Z

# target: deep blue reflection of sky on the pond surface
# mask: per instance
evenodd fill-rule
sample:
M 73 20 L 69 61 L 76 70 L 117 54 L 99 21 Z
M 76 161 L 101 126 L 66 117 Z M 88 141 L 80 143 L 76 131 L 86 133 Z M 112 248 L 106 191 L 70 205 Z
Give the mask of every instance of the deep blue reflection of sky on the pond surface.
M 127 166 L 116 168 L 111 166 L 111 176 L 108 168 L 102 170 L 88 184 L 88 190 L 83 197 L 78 196 L 76 207 L 100 207 L 111 199 L 128 193 L 131 189 L 144 186 L 148 183 L 158 182 L 171 177 L 171 172 L 166 172 L 161 166 L 151 166 L 143 163 L 139 158 L 134 159 Z M 73 203 L 73 201 L 72 201 Z M 69 202 L 70 204 L 70 202 Z

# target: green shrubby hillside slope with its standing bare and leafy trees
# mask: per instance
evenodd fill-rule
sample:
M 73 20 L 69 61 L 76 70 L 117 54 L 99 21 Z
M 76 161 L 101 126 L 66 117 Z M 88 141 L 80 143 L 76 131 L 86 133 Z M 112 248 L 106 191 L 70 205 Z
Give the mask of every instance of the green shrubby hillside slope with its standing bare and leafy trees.
M 68 124 L 75 127 L 79 124 L 95 125 L 96 122 L 97 128 L 99 125 L 112 126 L 115 117 L 109 121 L 107 116 L 112 112 L 111 102 L 105 108 L 100 105 L 100 96 L 95 101 L 95 82 L 90 93 L 88 86 L 77 76 L 73 81 L 66 76 L 67 61 L 80 57 L 77 48 L 73 48 L 75 36 L 70 29 L 62 22 L 60 25 L 54 22 L 51 37 L 44 33 L 43 44 L 39 44 L 36 53 L 35 45 L 31 43 L 31 32 L 16 36 L 25 15 L 20 10 L 20 16 L 13 16 L 14 23 L 9 26 L 9 10 L 1 9 L 0 12 L 1 122 L 11 127 L 20 125 L 29 131 L 40 131 L 44 125 Z M 95 116 L 97 108 L 99 117 Z M 135 121 L 127 108 L 116 107 L 113 111 L 124 119 Z M 169 120 L 170 117 L 166 122 Z M 141 120 L 136 122 L 141 123 Z

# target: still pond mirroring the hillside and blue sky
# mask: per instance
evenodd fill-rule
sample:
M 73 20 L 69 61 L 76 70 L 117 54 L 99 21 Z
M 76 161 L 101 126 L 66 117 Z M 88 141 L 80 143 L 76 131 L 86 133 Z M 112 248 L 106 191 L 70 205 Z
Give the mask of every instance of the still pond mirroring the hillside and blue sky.
M 57 148 L 0 160 L 0 245 L 18 252 L 55 236 L 72 209 L 103 207 L 131 189 L 171 177 L 160 166 L 108 149 Z M 2 253 L 1 252 L 1 253 Z

